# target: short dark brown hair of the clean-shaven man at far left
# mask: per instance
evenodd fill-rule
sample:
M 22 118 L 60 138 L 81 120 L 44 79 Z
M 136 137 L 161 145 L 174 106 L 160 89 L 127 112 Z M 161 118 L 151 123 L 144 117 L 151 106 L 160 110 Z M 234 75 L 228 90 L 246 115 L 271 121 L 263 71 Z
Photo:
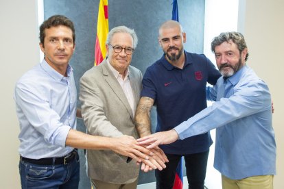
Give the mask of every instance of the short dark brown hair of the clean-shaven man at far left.
M 69 27 L 72 30 L 73 43 L 75 44 L 74 24 L 69 18 L 67 18 L 66 16 L 62 16 L 62 15 L 51 16 L 40 25 L 40 35 L 39 35 L 40 43 L 44 45 L 45 29 L 49 29 L 51 27 L 56 27 L 59 25 L 64 25 L 66 27 Z

